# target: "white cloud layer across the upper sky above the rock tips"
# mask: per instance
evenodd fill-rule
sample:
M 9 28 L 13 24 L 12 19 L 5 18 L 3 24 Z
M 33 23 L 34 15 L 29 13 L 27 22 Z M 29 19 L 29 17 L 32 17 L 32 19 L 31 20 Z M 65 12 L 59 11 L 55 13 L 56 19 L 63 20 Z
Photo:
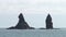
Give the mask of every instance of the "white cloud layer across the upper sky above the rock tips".
M 0 0 L 0 13 L 45 13 L 65 14 L 65 0 Z

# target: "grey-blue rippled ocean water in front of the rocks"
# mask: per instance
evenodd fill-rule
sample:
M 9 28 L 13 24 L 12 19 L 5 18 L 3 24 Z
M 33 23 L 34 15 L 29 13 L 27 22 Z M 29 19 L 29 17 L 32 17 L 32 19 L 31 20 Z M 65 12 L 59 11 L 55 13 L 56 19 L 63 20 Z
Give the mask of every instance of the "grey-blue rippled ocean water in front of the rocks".
M 0 37 L 66 37 L 66 29 L 0 29 Z

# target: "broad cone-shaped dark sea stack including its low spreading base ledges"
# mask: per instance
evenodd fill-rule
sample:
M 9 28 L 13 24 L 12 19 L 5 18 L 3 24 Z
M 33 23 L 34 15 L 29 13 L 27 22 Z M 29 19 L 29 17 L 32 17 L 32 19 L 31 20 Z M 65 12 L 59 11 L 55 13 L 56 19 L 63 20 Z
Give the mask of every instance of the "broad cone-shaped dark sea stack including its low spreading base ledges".
M 8 29 L 34 29 L 34 27 L 30 27 L 28 25 L 28 23 L 24 21 L 24 17 L 23 17 L 22 13 L 20 13 L 19 23 L 16 24 L 16 26 L 14 26 L 14 27 L 12 26 Z

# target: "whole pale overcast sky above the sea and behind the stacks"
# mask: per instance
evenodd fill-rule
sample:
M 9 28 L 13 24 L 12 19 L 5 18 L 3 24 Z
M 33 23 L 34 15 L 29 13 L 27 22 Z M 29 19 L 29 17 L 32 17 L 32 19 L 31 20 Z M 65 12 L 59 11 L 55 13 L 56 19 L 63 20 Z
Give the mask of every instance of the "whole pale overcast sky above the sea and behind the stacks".
M 66 0 L 0 0 L 0 27 L 14 26 L 19 13 L 24 14 L 30 26 L 45 27 L 44 20 L 50 13 L 54 27 L 66 27 Z

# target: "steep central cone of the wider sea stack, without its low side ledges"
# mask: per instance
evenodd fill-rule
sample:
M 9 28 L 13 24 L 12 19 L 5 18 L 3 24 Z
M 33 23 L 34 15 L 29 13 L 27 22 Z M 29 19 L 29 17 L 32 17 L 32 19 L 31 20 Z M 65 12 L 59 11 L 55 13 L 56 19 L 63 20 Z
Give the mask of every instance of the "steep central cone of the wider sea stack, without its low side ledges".
M 28 23 L 25 22 L 23 14 L 20 13 L 19 15 L 19 23 L 16 24 L 15 28 L 18 29 L 28 29 L 30 28 L 30 26 L 28 25 Z

